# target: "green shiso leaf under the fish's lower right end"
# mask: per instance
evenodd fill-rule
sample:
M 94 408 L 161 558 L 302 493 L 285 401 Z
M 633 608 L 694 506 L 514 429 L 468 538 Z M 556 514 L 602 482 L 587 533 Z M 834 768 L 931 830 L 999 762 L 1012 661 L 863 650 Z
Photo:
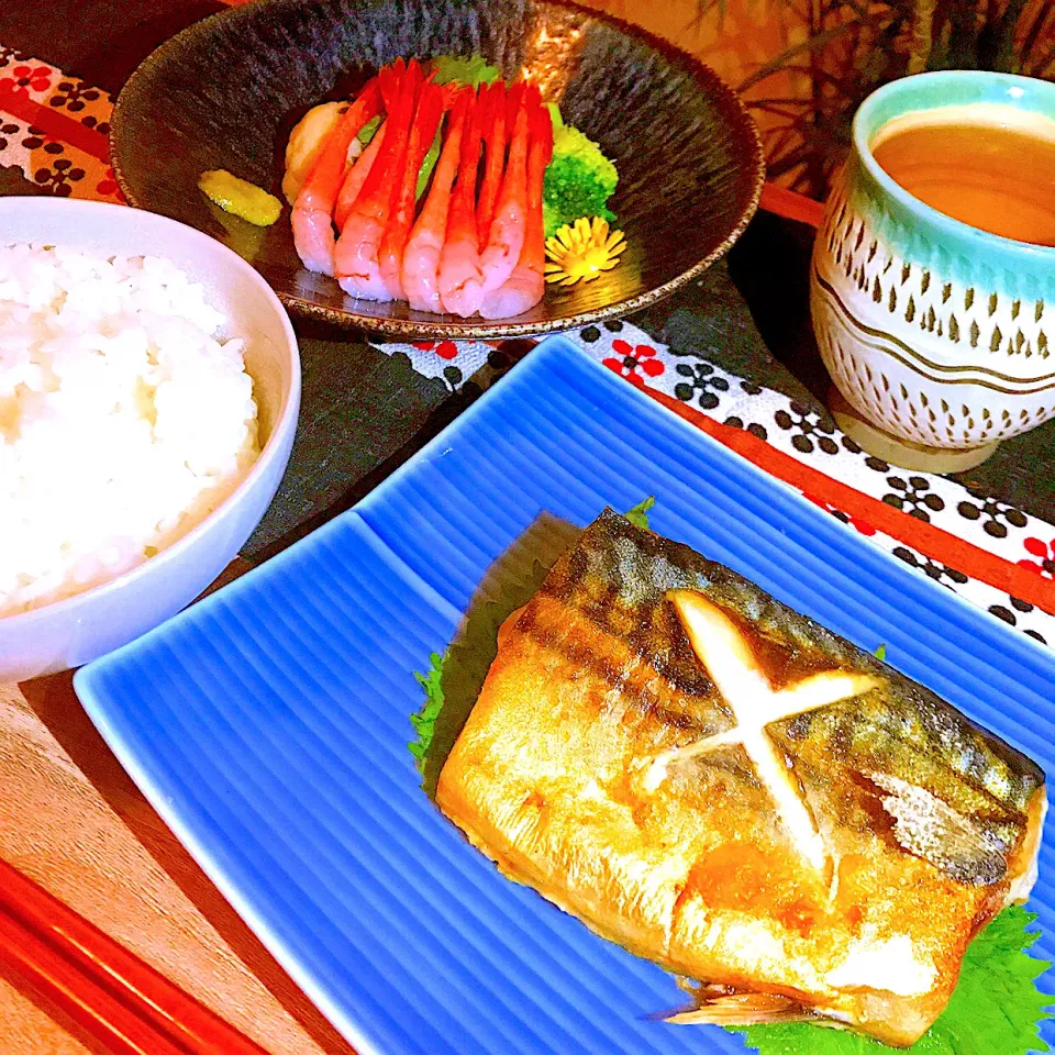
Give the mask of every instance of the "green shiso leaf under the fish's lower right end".
M 1036 988 L 1051 964 L 1028 952 L 1040 937 L 1021 906 L 1004 909 L 967 946 L 959 982 L 941 1018 L 907 1051 L 912 1055 L 1026 1055 L 1046 1052 L 1039 1023 L 1053 998 Z M 898 1048 L 812 1023 L 737 1029 L 759 1055 L 882 1055 Z

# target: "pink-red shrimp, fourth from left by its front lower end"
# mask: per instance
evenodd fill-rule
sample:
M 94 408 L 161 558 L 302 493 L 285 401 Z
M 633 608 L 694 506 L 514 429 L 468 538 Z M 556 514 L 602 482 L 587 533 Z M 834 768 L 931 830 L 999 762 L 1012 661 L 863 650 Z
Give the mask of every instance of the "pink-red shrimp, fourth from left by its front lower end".
M 410 307 L 415 311 L 442 312 L 440 299 L 440 254 L 447 234 L 447 214 L 451 211 L 451 185 L 458 170 L 462 155 L 462 134 L 473 91 L 463 89 L 456 96 L 451 112 L 451 125 L 440 152 L 440 160 L 432 174 L 432 187 L 425 206 L 418 216 L 407 248 L 400 278 Z

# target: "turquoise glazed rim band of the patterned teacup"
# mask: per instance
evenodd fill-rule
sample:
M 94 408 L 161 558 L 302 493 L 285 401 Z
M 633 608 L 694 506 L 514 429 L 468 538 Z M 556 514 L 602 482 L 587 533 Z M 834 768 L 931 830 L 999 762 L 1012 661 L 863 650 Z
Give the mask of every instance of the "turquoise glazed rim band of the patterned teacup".
M 849 164 L 858 202 L 888 244 L 908 260 L 934 266 L 949 278 L 984 285 L 1014 297 L 1055 296 L 1055 247 L 980 231 L 932 209 L 876 163 L 871 144 L 889 121 L 907 113 L 974 103 L 997 103 L 1055 121 L 1055 85 L 984 70 L 941 70 L 891 81 L 874 91 L 854 116 Z M 985 280 L 989 277 L 989 281 Z

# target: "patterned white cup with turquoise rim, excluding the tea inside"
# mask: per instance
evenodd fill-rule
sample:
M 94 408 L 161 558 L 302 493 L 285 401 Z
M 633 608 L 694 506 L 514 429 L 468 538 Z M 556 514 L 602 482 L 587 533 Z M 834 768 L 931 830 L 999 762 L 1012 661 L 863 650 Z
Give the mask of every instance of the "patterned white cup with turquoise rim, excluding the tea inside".
M 1055 248 L 937 212 L 871 154 L 889 122 L 964 107 L 1055 120 L 1055 85 L 949 71 L 874 92 L 813 249 L 813 327 L 837 390 L 833 413 L 866 449 L 907 468 L 970 468 L 1055 415 Z

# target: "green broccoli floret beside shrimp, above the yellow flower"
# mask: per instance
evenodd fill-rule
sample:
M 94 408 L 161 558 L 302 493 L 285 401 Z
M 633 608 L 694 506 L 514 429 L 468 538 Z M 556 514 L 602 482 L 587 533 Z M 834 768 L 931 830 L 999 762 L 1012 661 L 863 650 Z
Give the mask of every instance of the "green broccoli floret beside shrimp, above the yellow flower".
M 546 237 L 579 216 L 614 220 L 607 202 L 618 181 L 619 173 L 601 148 L 578 129 L 560 121 L 558 111 L 553 122 L 553 160 L 542 190 Z

